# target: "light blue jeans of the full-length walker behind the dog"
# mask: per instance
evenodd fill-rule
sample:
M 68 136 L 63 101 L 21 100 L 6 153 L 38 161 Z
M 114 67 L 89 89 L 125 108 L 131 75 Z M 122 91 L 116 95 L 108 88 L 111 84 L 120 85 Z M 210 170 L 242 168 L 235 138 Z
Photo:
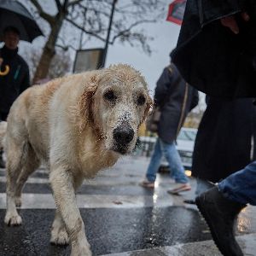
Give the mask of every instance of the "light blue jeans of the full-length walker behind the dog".
M 181 158 L 177 152 L 175 143 L 164 143 L 160 138 L 154 145 L 154 153 L 151 157 L 146 177 L 148 181 L 154 182 L 156 173 L 160 167 L 162 156 L 165 155 L 170 167 L 170 174 L 177 183 L 188 183 L 189 178 L 185 175 Z

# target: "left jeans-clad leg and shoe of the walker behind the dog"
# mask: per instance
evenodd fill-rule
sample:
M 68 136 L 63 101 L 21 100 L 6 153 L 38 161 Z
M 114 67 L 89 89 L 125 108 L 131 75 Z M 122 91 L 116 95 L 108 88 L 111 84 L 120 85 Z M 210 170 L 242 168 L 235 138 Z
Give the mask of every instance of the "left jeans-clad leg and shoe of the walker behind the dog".
M 161 158 L 162 158 L 162 152 L 160 148 L 160 140 L 158 138 L 154 145 L 154 152 L 151 156 L 148 170 L 146 172 L 147 180 L 141 183 L 141 185 L 143 185 L 144 187 L 154 188 L 154 181 L 156 179 L 156 173 L 160 166 Z

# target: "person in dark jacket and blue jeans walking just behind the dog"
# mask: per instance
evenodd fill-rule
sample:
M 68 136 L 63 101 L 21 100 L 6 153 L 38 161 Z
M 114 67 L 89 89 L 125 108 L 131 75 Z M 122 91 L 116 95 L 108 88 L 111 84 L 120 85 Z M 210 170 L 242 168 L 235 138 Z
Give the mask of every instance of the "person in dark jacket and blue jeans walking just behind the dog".
M 175 179 L 177 188 L 169 193 L 178 193 L 191 189 L 189 179 L 175 146 L 175 140 L 184 119 L 198 103 L 198 91 L 189 86 L 180 76 L 177 68 L 171 63 L 166 67 L 157 81 L 154 102 L 160 107 L 160 122 L 158 124 L 158 139 L 154 146 L 146 179 L 141 183 L 143 187 L 154 188 L 156 173 L 160 166 L 162 155 L 166 156 L 171 169 L 171 176 Z

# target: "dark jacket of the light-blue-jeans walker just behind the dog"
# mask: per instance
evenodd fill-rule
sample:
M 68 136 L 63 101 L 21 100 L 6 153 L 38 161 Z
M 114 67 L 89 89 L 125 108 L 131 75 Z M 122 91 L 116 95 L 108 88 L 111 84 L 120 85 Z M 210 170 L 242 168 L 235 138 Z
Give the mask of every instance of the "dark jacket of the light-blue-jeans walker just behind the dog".
M 197 105 L 198 91 L 189 86 L 171 64 L 157 81 L 154 102 L 161 109 L 158 135 L 165 143 L 172 143 L 187 114 Z

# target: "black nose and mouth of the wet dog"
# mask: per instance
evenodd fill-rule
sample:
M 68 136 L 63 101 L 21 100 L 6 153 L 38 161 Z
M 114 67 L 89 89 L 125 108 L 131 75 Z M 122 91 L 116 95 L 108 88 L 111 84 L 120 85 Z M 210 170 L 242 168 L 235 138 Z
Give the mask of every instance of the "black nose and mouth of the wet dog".
M 125 154 L 128 144 L 131 143 L 134 137 L 134 131 L 131 125 L 124 122 L 113 130 L 114 150 Z

